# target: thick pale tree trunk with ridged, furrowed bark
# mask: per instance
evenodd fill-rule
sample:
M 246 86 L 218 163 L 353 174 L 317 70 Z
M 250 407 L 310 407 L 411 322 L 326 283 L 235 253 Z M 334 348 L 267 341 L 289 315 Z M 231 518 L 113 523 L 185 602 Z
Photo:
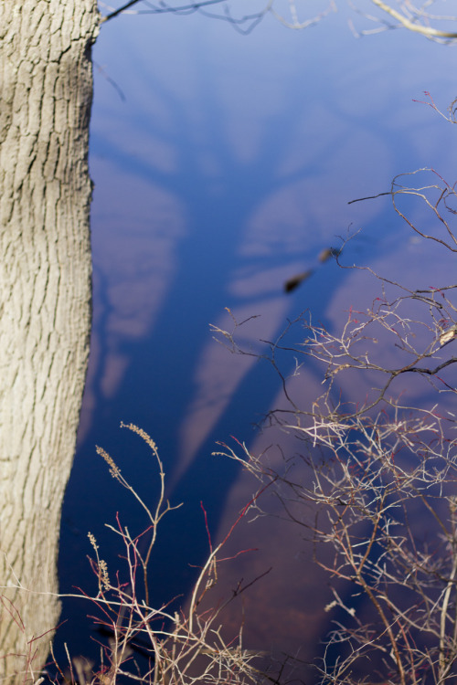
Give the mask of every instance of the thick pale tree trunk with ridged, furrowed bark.
M 90 338 L 96 5 L 0 0 L 0 676 L 8 683 L 35 677 L 58 622 L 49 593 L 58 592 L 60 510 Z

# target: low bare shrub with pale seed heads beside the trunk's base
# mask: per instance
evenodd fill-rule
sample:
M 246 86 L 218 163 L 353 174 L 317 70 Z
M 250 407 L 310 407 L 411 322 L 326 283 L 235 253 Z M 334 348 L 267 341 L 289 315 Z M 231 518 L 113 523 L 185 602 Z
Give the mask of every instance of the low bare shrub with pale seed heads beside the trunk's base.
M 58 666 L 60 679 L 74 685 L 111 685 L 119 679 L 161 685 L 278 682 L 270 673 L 257 668 L 259 658 L 264 655 L 243 647 L 242 625 L 238 634 L 229 638 L 222 630 L 224 608 L 241 595 L 254 579 L 228 592 L 225 599 L 220 589 L 216 590 L 221 551 L 253 501 L 240 512 L 225 539 L 216 546 L 211 541 L 207 512 L 202 504 L 209 553 L 190 593 L 190 601 L 187 606 L 176 608 L 172 598 L 154 608 L 151 606 L 148 575 L 151 553 L 162 519 L 177 507 L 165 501 L 165 472 L 154 440 L 132 424 L 122 424 L 122 427 L 142 437 L 151 449 L 159 474 L 159 492 L 154 506 L 143 501 L 123 477 L 112 457 L 104 449 L 97 448 L 98 454 L 108 464 L 112 477 L 129 490 L 143 508 L 148 526 L 140 534 L 133 535 L 121 522 L 119 515 L 116 525 L 108 526 L 122 543 L 124 570 L 127 574 L 127 578 L 123 580 L 119 569 L 113 571 L 108 568 L 97 541 L 89 533 L 93 550 L 90 564 L 97 577 L 98 594 L 67 596 L 83 596 L 91 603 L 92 618 L 101 632 L 109 636 L 109 641 L 102 649 L 101 667 L 94 669 L 84 659 L 71 659 L 68 655 L 68 666 Z M 260 491 L 254 496 L 254 500 L 260 496 Z M 210 599 L 208 601 L 211 593 L 214 595 L 213 602 Z M 135 656 L 138 650 L 143 655 L 141 664 L 137 663 Z

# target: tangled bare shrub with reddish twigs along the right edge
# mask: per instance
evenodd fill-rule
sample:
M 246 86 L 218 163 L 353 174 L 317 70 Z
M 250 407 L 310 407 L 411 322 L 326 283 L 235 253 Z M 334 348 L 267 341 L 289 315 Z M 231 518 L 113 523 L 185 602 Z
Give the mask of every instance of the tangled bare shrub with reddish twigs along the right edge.
M 449 121 L 454 112 L 455 103 Z M 401 174 L 382 195 L 421 239 L 457 251 L 455 188 L 436 171 Z M 346 248 L 341 268 L 361 269 L 345 266 Z M 275 481 L 282 511 L 330 578 L 334 599 L 323 609 L 335 620 L 316 664 L 320 683 L 455 682 L 457 286 L 412 290 L 364 269 L 379 296 L 366 310 L 349 307 L 340 332 L 305 312 L 277 341 L 264 341 L 261 356 L 286 400 L 267 424 L 292 432 L 300 456 L 285 456 L 279 472 L 245 446 L 217 454 L 263 484 Z M 238 344 L 239 325 L 215 335 L 231 352 L 258 355 Z M 296 396 L 303 364 L 323 378 L 310 406 Z M 354 387 L 367 390 L 353 398 Z

